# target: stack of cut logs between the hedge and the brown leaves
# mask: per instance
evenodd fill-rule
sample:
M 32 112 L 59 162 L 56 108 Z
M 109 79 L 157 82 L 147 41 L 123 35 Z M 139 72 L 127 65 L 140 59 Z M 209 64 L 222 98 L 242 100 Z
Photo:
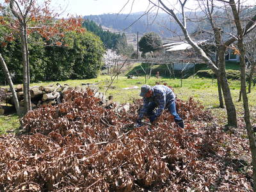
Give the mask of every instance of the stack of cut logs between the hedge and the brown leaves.
M 113 102 L 113 95 L 109 95 L 108 99 L 106 99 L 104 93 L 99 92 L 99 89 L 94 86 L 94 84 L 88 83 L 76 87 L 69 86 L 68 84 L 64 84 L 63 86 L 61 86 L 61 84 L 59 83 L 57 83 L 56 86 L 54 86 L 53 84 L 49 84 L 47 86 L 31 86 L 30 95 L 32 109 L 40 108 L 40 106 L 44 105 L 60 104 L 61 102 L 63 102 L 63 98 L 68 91 L 76 90 L 77 92 L 86 92 L 87 88 L 90 88 L 93 91 L 94 97 L 100 99 L 99 105 L 103 108 L 115 108 L 116 113 L 129 110 L 129 104 L 120 105 L 116 102 Z M 22 109 L 25 106 L 22 85 L 18 84 L 15 88 L 15 91 L 17 92 L 20 108 Z M 5 88 L 4 92 L 4 100 L 6 104 L 11 104 L 14 106 L 14 100 L 10 88 Z M 71 100 L 66 99 L 66 101 L 70 102 Z M 0 108 L 0 115 L 3 114 L 4 109 Z

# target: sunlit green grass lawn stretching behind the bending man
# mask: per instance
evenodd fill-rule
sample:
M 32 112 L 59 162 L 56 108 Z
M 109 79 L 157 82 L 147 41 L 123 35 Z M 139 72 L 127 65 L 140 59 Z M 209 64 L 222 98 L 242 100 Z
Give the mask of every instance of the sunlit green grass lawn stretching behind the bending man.
M 180 79 L 168 79 L 151 77 L 147 79 L 147 84 L 154 85 L 156 82 L 167 83 L 172 86 L 177 97 L 182 100 L 188 100 L 189 97 L 193 97 L 198 102 L 201 102 L 206 109 L 210 109 L 212 113 L 220 119 L 220 123 L 226 124 L 226 109 L 218 108 L 218 89 L 216 79 L 190 77 L 182 80 L 182 86 Z M 33 83 L 33 85 L 47 85 L 56 84 L 57 82 L 44 82 L 44 83 Z M 85 80 L 68 80 L 58 81 L 60 84 L 69 84 L 70 86 L 79 86 L 81 83 L 97 83 L 100 88 L 100 92 L 106 92 L 106 88 L 111 83 L 111 76 L 99 76 L 96 79 L 85 79 Z M 237 108 L 237 116 L 243 117 L 243 102 L 237 102 L 239 98 L 239 86 L 240 82 L 230 80 L 230 90 L 232 97 Z M 119 76 L 118 79 L 113 81 L 111 88 L 106 92 L 106 96 L 114 95 L 116 102 L 132 102 L 133 99 L 138 99 L 140 93 L 140 86 L 145 84 L 145 77 L 138 77 L 138 79 L 127 79 L 125 76 Z M 137 89 L 125 90 L 127 87 L 138 86 Z M 256 122 L 255 116 L 255 88 L 252 88 L 252 93 L 248 94 L 249 105 L 251 109 L 252 123 Z M 3 133 L 6 130 L 15 129 L 19 127 L 19 120 L 15 115 L 0 116 L 0 131 Z

